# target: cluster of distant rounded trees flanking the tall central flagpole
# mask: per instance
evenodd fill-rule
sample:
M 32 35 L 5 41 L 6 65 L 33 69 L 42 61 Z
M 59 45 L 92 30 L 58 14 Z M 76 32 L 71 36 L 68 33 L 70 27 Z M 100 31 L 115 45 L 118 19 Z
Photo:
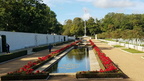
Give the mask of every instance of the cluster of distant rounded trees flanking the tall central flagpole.
M 82 20 L 79 17 L 74 18 L 73 20 L 65 21 L 63 26 L 63 35 L 76 35 L 83 36 L 84 35 L 84 27 L 86 25 L 87 35 L 94 35 L 97 33 L 101 33 L 100 29 L 100 20 L 95 21 L 94 18 L 90 18 L 87 21 Z

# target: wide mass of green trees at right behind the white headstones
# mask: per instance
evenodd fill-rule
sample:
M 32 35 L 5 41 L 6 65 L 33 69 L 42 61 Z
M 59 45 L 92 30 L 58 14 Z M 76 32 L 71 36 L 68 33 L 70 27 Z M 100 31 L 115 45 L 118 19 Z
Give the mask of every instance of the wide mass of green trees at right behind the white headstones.
M 98 38 L 144 38 L 144 14 L 108 13 L 101 21 Z

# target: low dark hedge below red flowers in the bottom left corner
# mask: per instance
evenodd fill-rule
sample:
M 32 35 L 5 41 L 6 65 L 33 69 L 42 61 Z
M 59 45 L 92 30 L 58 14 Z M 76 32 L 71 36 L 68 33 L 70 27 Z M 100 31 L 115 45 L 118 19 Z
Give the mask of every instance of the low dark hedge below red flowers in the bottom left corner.
M 1 80 L 30 80 L 30 79 L 46 79 L 49 76 L 47 74 L 33 74 L 33 75 L 5 75 L 1 77 Z

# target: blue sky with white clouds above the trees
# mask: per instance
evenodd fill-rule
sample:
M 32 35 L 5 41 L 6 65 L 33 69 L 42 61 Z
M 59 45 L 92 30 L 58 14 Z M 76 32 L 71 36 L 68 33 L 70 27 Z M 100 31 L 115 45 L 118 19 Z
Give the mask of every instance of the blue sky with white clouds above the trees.
M 143 14 L 144 0 L 43 0 L 53 10 L 60 23 L 81 17 L 103 18 L 110 12 Z

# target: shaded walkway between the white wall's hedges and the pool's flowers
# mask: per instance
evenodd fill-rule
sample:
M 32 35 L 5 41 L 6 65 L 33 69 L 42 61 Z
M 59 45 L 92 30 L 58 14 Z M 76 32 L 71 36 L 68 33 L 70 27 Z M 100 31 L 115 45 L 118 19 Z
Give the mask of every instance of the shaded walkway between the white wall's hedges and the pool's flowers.
M 68 43 L 68 44 L 70 44 L 70 43 Z M 68 44 L 54 46 L 52 51 L 63 48 Z M 44 51 L 36 52 L 31 55 L 23 56 L 21 58 L 0 64 L 0 76 L 5 75 L 8 72 L 15 71 L 15 70 L 19 69 L 20 67 L 24 66 L 25 64 L 27 64 L 28 62 L 35 61 L 38 59 L 38 57 L 42 57 L 47 54 L 49 54 L 48 50 L 44 50 Z

